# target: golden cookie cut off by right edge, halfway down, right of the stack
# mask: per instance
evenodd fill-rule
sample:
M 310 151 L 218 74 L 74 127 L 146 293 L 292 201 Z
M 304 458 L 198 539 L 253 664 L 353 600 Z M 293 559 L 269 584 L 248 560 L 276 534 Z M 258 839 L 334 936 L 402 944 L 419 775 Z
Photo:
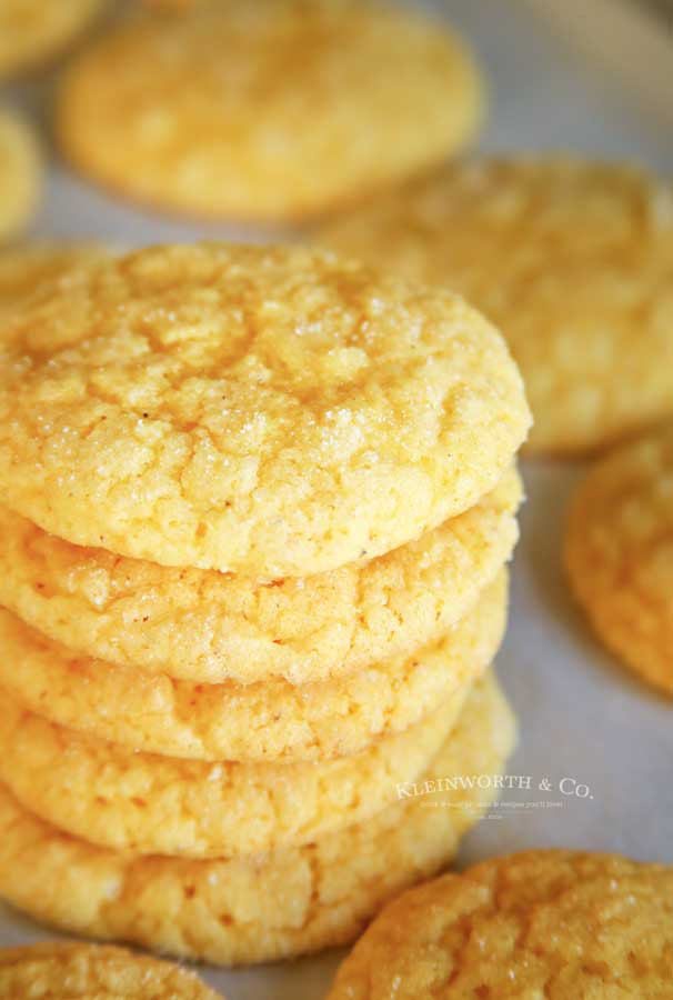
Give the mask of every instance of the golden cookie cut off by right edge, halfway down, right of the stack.
M 571 506 L 565 567 L 605 646 L 673 694 L 673 426 L 591 469 Z

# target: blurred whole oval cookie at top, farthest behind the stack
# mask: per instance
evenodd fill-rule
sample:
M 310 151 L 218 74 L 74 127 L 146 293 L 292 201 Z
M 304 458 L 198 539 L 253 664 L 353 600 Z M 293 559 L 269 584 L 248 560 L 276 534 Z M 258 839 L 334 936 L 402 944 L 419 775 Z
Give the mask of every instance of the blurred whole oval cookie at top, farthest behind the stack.
M 478 131 L 480 73 L 443 22 L 359 0 L 194 8 L 109 31 L 66 73 L 57 128 L 84 174 L 180 212 L 280 222 Z

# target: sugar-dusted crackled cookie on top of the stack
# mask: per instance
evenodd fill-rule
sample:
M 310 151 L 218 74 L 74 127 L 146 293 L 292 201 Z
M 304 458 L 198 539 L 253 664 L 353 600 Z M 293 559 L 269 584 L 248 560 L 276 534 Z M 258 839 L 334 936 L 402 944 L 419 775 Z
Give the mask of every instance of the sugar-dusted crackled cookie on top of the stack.
M 473 506 L 525 437 L 462 300 L 303 248 L 148 248 L 4 324 L 6 504 L 80 546 L 257 579 L 371 559 Z

